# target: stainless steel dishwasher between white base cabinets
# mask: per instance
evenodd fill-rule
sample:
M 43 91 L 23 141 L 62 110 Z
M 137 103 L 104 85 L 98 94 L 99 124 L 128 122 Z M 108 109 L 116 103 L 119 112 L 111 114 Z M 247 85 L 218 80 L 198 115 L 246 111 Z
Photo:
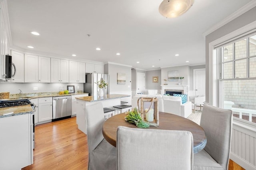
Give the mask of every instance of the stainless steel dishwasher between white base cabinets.
M 72 115 L 72 96 L 61 96 L 52 98 L 52 119 Z

